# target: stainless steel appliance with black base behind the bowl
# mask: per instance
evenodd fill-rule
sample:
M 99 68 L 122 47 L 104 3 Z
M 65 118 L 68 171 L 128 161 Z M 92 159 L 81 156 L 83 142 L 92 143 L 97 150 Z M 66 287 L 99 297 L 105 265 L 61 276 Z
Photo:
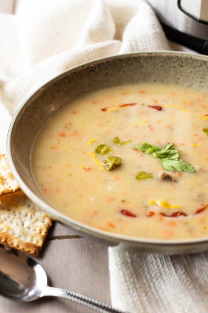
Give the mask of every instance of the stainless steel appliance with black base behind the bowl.
M 208 55 L 208 0 L 146 0 L 166 36 Z

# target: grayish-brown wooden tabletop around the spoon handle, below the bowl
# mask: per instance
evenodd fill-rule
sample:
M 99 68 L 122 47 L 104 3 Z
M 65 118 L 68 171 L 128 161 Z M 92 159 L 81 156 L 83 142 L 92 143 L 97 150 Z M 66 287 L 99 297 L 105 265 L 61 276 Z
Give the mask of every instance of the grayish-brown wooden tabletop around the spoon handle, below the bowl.
M 46 270 L 49 285 L 71 289 L 110 304 L 108 247 L 79 237 L 72 229 L 54 223 L 37 259 Z M 1 313 L 90 313 L 69 300 L 45 298 L 19 303 L 0 296 Z

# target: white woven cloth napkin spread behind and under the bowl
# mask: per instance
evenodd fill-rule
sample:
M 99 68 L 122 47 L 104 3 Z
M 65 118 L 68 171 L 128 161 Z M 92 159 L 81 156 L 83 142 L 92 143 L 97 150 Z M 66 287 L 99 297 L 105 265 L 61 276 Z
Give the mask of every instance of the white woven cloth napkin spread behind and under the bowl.
M 20 0 L 0 14 L 0 153 L 19 105 L 81 63 L 143 50 L 178 49 L 143 0 Z M 112 304 L 130 312 L 206 312 L 206 254 L 145 256 L 109 248 Z M 204 288 L 204 289 L 203 289 Z

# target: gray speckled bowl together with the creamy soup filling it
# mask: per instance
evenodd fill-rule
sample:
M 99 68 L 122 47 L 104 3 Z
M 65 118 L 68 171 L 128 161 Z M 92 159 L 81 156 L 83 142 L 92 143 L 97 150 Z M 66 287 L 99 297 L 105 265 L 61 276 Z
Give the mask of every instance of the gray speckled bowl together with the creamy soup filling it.
M 208 58 L 136 53 L 71 69 L 21 105 L 8 161 L 82 235 L 140 252 L 208 248 Z

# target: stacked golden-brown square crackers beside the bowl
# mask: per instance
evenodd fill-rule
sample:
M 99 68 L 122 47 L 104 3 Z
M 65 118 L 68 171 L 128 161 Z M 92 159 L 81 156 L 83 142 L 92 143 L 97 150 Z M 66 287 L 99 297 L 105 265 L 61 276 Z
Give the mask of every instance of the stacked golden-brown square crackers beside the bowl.
M 38 256 L 52 220 L 20 190 L 0 155 L 0 243 Z

